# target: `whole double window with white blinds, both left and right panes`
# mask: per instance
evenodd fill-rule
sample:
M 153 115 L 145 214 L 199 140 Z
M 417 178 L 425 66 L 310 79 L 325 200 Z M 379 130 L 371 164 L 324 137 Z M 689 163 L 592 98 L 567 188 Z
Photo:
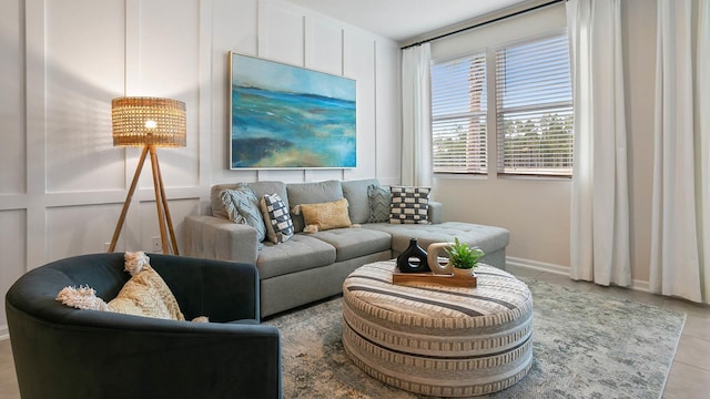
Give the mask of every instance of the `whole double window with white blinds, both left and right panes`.
M 574 135 L 567 35 L 487 53 L 432 66 L 434 172 L 487 173 L 487 141 L 495 140 L 499 174 L 570 176 Z M 486 73 L 487 59 L 495 62 L 493 76 Z M 495 88 L 491 99 L 486 90 L 489 83 Z M 493 121 L 489 108 L 495 110 Z M 489 130 L 496 133 L 493 137 Z

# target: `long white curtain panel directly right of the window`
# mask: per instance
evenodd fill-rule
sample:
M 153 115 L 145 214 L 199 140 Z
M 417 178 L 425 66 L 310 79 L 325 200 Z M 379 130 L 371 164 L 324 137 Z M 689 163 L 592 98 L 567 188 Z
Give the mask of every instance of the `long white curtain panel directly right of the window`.
M 620 0 L 570 0 L 575 96 L 570 277 L 631 284 Z

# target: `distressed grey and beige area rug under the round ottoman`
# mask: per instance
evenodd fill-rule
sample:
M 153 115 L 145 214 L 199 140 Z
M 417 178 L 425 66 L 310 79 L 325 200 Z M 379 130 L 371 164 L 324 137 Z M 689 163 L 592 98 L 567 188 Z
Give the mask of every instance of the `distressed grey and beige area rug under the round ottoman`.
M 535 300 L 534 362 L 479 398 L 661 397 L 682 313 L 524 279 Z M 265 321 L 281 331 L 284 398 L 423 398 L 371 378 L 345 355 L 342 298 Z

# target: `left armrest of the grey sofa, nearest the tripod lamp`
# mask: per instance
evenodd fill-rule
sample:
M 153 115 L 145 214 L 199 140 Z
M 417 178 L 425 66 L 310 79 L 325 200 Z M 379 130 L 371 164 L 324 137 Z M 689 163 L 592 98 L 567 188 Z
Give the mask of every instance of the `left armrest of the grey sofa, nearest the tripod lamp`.
M 207 215 L 185 217 L 185 255 L 256 264 L 256 229 L 232 221 Z

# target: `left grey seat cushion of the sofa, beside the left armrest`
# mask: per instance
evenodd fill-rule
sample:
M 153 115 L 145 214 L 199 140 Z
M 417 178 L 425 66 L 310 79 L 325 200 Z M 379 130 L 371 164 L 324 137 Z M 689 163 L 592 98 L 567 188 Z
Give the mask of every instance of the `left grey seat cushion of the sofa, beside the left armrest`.
M 261 279 L 296 273 L 335 262 L 335 248 L 311 235 L 296 234 L 286 243 L 265 243 L 256 268 Z

